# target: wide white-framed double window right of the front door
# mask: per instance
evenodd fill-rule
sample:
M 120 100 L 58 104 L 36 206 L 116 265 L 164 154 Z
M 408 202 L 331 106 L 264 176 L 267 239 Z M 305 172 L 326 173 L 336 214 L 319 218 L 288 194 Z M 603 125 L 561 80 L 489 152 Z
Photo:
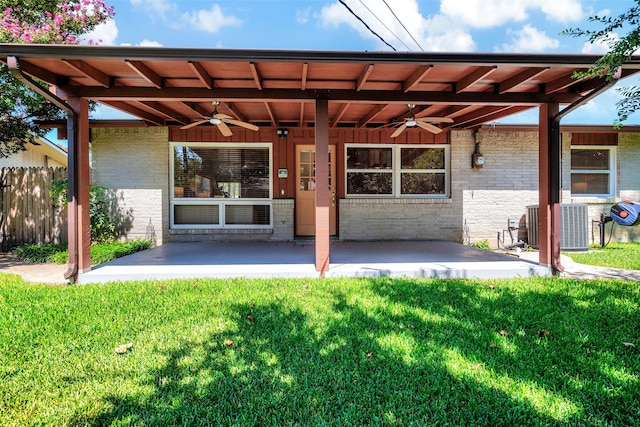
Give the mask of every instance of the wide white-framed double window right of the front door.
M 347 196 L 447 197 L 448 145 L 346 146 Z

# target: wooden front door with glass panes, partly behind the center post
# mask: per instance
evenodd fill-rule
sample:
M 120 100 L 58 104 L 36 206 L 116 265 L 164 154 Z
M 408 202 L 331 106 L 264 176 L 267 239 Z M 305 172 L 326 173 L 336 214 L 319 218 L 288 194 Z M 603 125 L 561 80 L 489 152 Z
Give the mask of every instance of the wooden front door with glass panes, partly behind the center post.
M 329 146 L 329 234 L 336 235 L 336 146 Z M 296 147 L 296 234 L 316 234 L 316 148 Z

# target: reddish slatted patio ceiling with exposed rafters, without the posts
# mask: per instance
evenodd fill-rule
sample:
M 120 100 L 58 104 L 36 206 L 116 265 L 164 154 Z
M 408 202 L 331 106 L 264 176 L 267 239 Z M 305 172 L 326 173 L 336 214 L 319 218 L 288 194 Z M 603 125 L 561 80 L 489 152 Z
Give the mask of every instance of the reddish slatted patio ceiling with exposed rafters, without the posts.
M 568 104 L 603 83 L 578 80 L 586 55 L 264 51 L 2 45 L 0 61 L 57 88 L 132 114 L 150 125 L 184 125 L 219 112 L 261 126 L 313 125 L 314 101 L 329 99 L 332 127 L 374 127 L 443 116 L 451 128 L 537 107 Z M 623 76 L 640 71 L 625 64 Z

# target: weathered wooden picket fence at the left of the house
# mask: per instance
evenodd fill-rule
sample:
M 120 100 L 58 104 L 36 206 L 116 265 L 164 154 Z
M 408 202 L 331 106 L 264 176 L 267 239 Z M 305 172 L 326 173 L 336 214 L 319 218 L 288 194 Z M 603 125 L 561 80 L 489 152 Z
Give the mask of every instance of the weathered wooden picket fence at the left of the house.
M 67 208 L 49 194 L 54 181 L 67 177 L 63 168 L 0 169 L 0 242 L 2 250 L 26 245 L 67 242 Z

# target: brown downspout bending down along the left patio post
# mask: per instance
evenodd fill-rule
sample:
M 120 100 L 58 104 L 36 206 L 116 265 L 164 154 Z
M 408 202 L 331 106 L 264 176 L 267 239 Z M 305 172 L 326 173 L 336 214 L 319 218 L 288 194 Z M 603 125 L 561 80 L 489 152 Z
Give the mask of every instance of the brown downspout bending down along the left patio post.
M 25 86 L 31 88 L 34 92 L 42 95 L 47 101 L 51 102 L 56 107 L 63 110 L 68 117 L 67 120 L 67 135 L 70 139 L 70 145 L 74 145 L 74 147 L 69 147 L 69 157 L 67 162 L 67 176 L 68 176 L 68 203 L 72 203 L 74 208 L 76 207 L 76 201 L 78 199 L 77 195 L 77 185 L 76 185 L 76 155 L 75 155 L 75 144 L 77 143 L 77 133 L 76 129 L 78 128 L 78 115 L 64 100 L 57 97 L 53 93 L 49 92 L 47 89 L 42 87 L 38 82 L 32 79 L 30 76 L 25 74 L 20 69 L 20 62 L 15 56 L 7 57 L 7 65 L 11 70 L 11 74 L 15 77 L 19 82 L 24 84 Z M 73 214 L 73 218 L 76 218 L 77 215 Z M 75 222 L 75 221 L 74 221 Z M 72 233 L 69 239 L 69 263 L 67 271 L 64 273 L 65 279 L 73 280 L 78 273 L 78 227 L 73 226 L 69 227 L 69 231 Z

